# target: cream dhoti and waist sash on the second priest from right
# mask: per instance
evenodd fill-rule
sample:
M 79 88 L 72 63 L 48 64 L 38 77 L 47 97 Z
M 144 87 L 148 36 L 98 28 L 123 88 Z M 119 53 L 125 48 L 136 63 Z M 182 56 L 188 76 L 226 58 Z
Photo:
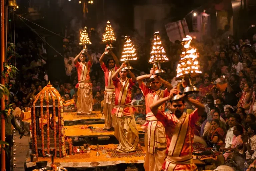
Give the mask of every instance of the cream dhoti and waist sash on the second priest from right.
M 145 171 L 160 171 L 166 157 L 166 137 L 165 129 L 161 122 L 157 120 L 152 112 L 146 116 L 146 122 L 141 126 L 145 130 L 144 157 Z

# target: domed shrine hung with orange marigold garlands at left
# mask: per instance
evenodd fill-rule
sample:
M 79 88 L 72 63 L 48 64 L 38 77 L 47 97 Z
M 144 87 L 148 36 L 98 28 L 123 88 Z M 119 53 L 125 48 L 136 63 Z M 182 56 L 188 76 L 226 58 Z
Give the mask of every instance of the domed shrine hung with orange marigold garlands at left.
M 50 82 L 36 95 L 31 108 L 31 127 L 32 146 L 37 156 L 45 156 L 45 151 L 54 153 L 55 157 L 71 154 L 72 142 L 65 136 L 63 108 L 73 104 L 73 99 L 63 102 Z

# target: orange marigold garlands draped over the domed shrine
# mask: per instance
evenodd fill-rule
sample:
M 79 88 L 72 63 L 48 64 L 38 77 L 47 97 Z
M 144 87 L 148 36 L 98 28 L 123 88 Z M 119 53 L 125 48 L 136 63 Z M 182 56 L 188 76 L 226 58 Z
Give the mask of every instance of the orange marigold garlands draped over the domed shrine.
M 43 101 L 44 96 L 46 95 L 46 115 L 47 115 L 47 152 L 50 153 L 50 113 L 49 113 L 49 96 L 51 96 L 52 99 L 52 105 L 53 105 L 53 130 L 54 130 L 54 151 L 55 151 L 55 157 L 57 154 L 57 125 L 56 125 L 56 98 L 58 101 L 58 131 L 59 131 L 59 152 L 60 157 L 65 157 L 67 155 L 66 153 L 66 147 L 65 142 L 67 141 L 69 143 L 69 154 L 72 153 L 72 140 L 68 139 L 65 140 L 65 131 L 64 131 L 64 120 L 63 120 L 63 106 L 69 106 L 70 104 L 74 103 L 74 100 L 71 99 L 67 101 L 67 104 L 62 102 L 61 96 L 59 92 L 52 87 L 52 85 L 48 84 L 46 87 L 43 88 L 41 92 L 39 92 L 36 95 L 36 99 L 33 102 L 33 105 L 31 106 L 33 108 L 33 114 L 31 116 L 32 119 L 32 138 L 33 138 L 33 146 L 36 151 L 36 155 L 38 156 L 38 148 L 37 148 L 37 134 L 36 134 L 36 102 L 40 98 L 40 119 L 41 119 L 41 140 L 42 140 L 42 155 L 45 155 L 45 149 L 44 149 L 44 110 L 43 110 Z

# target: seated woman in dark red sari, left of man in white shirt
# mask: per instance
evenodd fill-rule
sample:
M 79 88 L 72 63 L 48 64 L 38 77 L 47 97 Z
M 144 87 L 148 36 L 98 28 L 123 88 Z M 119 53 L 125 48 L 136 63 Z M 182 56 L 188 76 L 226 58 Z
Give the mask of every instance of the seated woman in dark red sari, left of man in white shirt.
M 218 119 L 214 119 L 211 122 L 211 129 L 208 134 L 207 140 L 209 141 L 209 146 L 212 145 L 223 145 L 223 140 L 225 139 L 225 132 L 220 127 L 220 121 Z

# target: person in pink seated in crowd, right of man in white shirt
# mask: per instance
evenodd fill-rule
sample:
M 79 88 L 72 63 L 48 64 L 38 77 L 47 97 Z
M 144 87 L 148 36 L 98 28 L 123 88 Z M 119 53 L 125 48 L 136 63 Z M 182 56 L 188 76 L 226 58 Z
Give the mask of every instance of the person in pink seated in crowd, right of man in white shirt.
M 226 148 L 228 152 L 225 152 L 223 156 L 225 157 L 225 160 L 229 158 L 229 156 L 234 153 L 239 153 L 243 149 L 243 141 L 242 141 L 242 134 L 243 134 L 243 127 L 239 124 L 235 125 L 233 134 L 235 135 L 232 139 L 232 144 L 229 148 Z

